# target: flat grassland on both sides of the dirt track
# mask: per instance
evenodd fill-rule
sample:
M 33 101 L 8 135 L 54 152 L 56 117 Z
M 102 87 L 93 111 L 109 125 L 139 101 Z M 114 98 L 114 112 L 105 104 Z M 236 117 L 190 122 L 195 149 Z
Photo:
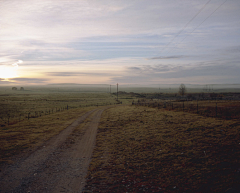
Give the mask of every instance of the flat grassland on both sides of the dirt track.
M 102 114 L 85 192 L 225 192 L 240 182 L 238 100 L 190 100 L 183 109 L 175 94 L 119 92 L 116 101 L 116 93 L 4 92 L 1 164 L 36 150 L 84 113 L 121 101 Z

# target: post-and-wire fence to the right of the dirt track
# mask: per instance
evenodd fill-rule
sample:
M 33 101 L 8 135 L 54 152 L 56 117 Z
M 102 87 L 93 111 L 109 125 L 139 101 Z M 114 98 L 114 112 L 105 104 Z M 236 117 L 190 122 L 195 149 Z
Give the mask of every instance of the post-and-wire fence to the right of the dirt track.
M 240 119 L 240 104 L 233 106 L 231 103 L 218 102 L 188 102 L 188 101 L 164 101 L 164 102 L 133 102 L 132 105 L 163 108 L 165 110 L 183 111 L 200 114 L 206 117 L 218 117 L 223 119 Z

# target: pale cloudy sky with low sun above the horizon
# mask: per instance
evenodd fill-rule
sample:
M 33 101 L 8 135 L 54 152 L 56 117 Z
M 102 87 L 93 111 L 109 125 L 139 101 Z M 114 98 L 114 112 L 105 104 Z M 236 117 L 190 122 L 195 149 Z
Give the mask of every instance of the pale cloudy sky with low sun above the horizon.
M 240 84 L 239 0 L 0 0 L 0 85 Z

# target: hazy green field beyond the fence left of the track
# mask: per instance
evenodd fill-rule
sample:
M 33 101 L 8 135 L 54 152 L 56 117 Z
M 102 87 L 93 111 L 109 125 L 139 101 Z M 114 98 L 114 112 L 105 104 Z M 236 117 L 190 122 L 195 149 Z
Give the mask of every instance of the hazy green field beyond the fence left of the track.
M 121 99 L 129 104 L 131 100 Z M 76 93 L 42 91 L 8 91 L 0 95 L 0 126 L 16 124 L 73 108 L 116 104 L 109 93 Z

